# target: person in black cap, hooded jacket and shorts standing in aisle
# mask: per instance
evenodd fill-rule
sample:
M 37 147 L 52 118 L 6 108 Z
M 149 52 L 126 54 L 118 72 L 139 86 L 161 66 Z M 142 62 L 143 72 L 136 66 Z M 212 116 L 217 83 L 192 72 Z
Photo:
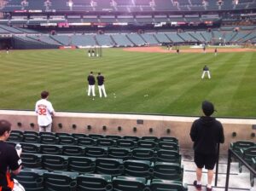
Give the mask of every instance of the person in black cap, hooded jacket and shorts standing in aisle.
M 224 143 L 224 130 L 222 124 L 212 118 L 211 115 L 215 111 L 212 102 L 203 101 L 201 105 L 205 116 L 196 119 L 190 130 L 190 137 L 194 142 L 194 160 L 196 168 L 195 188 L 201 190 L 202 168 L 207 171 L 207 191 L 212 190 L 212 179 L 214 175 L 214 166 L 218 158 L 218 143 Z

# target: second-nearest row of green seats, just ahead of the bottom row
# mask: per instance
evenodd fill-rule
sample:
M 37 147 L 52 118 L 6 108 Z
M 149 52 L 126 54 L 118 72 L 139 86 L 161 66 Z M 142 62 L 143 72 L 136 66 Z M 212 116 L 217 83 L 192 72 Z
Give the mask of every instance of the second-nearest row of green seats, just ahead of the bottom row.
M 104 159 L 50 154 L 22 153 L 24 168 L 48 171 L 74 171 L 79 174 L 98 173 L 111 176 L 160 178 L 183 181 L 183 165 L 133 159 Z

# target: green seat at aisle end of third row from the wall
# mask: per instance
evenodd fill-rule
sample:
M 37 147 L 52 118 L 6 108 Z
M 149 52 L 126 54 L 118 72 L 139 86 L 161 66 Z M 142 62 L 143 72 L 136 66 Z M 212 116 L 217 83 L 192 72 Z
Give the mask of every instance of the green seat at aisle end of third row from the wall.
M 158 150 L 156 161 L 181 164 L 181 155 L 177 151 Z

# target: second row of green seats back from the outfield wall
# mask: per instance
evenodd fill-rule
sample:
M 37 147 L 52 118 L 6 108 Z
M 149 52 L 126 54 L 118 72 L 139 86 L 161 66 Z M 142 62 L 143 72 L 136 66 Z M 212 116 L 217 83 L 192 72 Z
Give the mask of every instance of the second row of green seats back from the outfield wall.
M 140 140 L 134 142 L 128 139 L 113 140 L 110 138 L 92 139 L 90 137 L 74 138 L 73 136 L 35 136 L 12 134 L 9 136 L 9 142 L 28 142 L 28 143 L 42 143 L 54 145 L 78 145 L 78 146 L 96 146 L 96 147 L 118 147 L 118 148 L 148 148 L 148 149 L 166 149 L 179 150 L 177 142 L 154 142 L 148 140 Z

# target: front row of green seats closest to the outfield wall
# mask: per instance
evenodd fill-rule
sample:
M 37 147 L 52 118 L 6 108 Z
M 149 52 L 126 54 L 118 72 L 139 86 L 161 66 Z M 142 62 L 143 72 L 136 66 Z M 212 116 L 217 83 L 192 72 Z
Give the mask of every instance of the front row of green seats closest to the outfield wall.
M 148 141 L 154 141 L 154 142 L 177 142 L 177 138 L 171 137 L 171 136 L 163 136 L 163 137 L 156 137 L 156 136 L 143 136 L 143 137 L 138 137 L 138 136 L 116 136 L 116 135 L 106 135 L 103 136 L 101 134 L 83 134 L 83 133 L 54 133 L 54 132 L 36 132 L 36 131 L 21 131 L 21 130 L 12 130 L 11 135 L 13 134 L 23 136 L 23 135 L 34 135 L 34 136 L 56 136 L 56 137 L 61 137 L 61 136 L 73 136 L 74 138 L 79 138 L 79 137 L 90 137 L 92 139 L 98 139 L 98 138 L 109 138 L 113 140 L 117 139 L 128 139 L 132 140 L 134 142 L 137 142 L 139 140 L 148 140 Z

